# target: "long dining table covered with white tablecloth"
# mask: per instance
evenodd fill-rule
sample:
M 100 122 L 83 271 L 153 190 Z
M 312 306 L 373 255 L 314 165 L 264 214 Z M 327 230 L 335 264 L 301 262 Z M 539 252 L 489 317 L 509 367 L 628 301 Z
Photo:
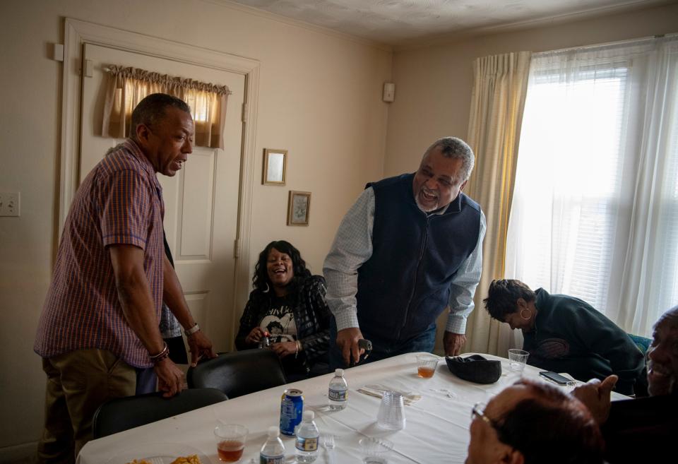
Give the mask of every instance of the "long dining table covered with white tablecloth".
M 544 380 L 542 369 L 527 365 L 513 370 L 509 359 L 482 356 L 501 362 L 501 376 L 495 383 L 478 384 L 452 374 L 444 357 L 439 357 L 434 376 L 417 375 L 417 354 L 408 353 L 345 369 L 348 399 L 343 410 L 328 408 L 328 384 L 333 374 L 317 376 L 283 386 L 232 398 L 182 415 L 146 424 L 100 439 L 89 441 L 78 455 L 77 464 L 126 464 L 153 456 L 195 454 L 202 464 L 217 464 L 215 427 L 242 424 L 249 429 L 242 464 L 259 462 L 259 451 L 267 439 L 268 428 L 280 424 L 280 401 L 286 388 L 303 392 L 304 410 L 315 412 L 321 434 L 333 436 L 335 446 L 319 446 L 315 463 L 362 463 L 365 457 L 359 440 L 365 437 L 388 439 L 393 449 L 386 455 L 389 464 L 463 463 L 470 440 L 471 409 L 487 403 L 494 395 L 522 377 Z M 469 353 L 470 354 L 470 353 Z M 466 356 L 465 354 L 464 356 Z M 261 372 L 262 376 L 266 372 Z M 559 386 L 571 391 L 574 385 Z M 383 390 L 405 394 L 405 427 L 393 431 L 379 427 L 377 412 Z M 362 393 L 362 392 L 367 393 Z M 376 393 L 376 394 L 375 394 Z M 625 398 L 613 393 L 613 400 Z M 285 462 L 295 461 L 295 437 L 280 436 L 285 445 Z M 171 461 L 150 460 L 153 464 Z

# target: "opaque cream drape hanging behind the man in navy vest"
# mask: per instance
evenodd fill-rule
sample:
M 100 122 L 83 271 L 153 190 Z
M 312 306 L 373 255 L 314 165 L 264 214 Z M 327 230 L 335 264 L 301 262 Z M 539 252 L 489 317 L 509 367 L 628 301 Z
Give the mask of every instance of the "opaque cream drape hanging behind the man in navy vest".
M 492 279 L 504 274 L 506 228 L 521 120 L 528 85 L 530 52 L 484 56 L 473 61 L 473 90 L 468 143 L 475 168 L 465 189 L 480 203 L 487 218 L 482 246 L 482 276 L 475 292 L 475 310 L 468 321 L 465 350 L 506 356 L 513 340 L 506 324 L 492 321 L 482 299 Z M 505 327 L 503 327 L 505 326 Z

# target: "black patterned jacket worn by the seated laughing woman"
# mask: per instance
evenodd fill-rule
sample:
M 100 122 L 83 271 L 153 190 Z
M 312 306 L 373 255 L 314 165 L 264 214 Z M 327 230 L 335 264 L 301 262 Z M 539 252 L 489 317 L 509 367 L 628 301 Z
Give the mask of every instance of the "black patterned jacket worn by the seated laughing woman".
M 297 340 L 302 343 L 306 371 L 316 362 L 328 362 L 328 347 L 330 341 L 330 309 L 325 302 L 325 278 L 321 275 L 311 275 L 298 287 L 297 297 L 292 307 L 297 325 Z M 256 348 L 256 343 L 245 343 L 250 331 L 258 326 L 263 316 L 270 309 L 270 292 L 253 290 L 240 318 L 240 328 L 235 338 L 235 347 L 238 350 Z

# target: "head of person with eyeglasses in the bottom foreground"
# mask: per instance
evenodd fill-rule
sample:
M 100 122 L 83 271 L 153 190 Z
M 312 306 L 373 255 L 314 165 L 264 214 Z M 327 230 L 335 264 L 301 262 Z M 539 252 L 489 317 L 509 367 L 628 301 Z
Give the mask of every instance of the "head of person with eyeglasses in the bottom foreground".
M 599 464 L 600 427 L 581 401 L 522 379 L 471 412 L 466 464 Z

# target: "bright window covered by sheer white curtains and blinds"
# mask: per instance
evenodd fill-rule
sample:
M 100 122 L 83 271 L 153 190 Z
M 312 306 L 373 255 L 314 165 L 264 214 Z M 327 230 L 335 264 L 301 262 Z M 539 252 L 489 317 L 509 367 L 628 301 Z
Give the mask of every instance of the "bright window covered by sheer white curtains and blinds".
M 649 336 L 678 304 L 678 37 L 534 54 L 506 278 Z

